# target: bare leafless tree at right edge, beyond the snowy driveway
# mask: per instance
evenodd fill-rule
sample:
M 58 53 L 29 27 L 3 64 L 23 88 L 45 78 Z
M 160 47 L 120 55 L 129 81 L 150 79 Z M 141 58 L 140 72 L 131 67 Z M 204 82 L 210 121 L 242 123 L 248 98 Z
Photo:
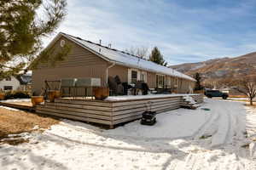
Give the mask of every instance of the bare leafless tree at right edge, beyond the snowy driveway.
M 233 82 L 233 88 L 238 92 L 247 95 L 250 105 L 253 105 L 253 98 L 256 97 L 256 77 L 243 77 Z

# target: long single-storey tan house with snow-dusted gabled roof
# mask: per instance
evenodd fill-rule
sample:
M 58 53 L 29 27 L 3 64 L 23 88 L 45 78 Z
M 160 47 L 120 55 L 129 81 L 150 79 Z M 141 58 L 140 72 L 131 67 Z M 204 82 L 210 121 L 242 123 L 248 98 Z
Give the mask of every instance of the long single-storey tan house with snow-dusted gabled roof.
M 79 77 L 101 78 L 102 86 L 107 86 L 108 77 L 119 76 L 121 82 L 140 80 L 147 82 L 149 88 L 169 87 L 176 93 L 190 93 L 195 86 L 195 79 L 181 72 L 65 33 L 59 33 L 47 48 L 57 51 L 66 43 L 72 46 L 67 59 L 55 67 L 38 65 L 38 69 L 32 71 L 32 92 L 35 94 L 40 94 L 45 80 Z

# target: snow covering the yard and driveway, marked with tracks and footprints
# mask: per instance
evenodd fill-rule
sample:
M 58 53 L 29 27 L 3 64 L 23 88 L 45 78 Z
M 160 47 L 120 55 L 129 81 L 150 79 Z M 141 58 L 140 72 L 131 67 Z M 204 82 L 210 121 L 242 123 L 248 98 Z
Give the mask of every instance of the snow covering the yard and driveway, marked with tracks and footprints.
M 256 109 L 214 99 L 195 111 L 159 114 L 153 127 L 136 121 L 104 130 L 63 120 L 44 133 L 28 134 L 28 144 L 0 145 L 0 167 L 253 170 L 255 129 Z

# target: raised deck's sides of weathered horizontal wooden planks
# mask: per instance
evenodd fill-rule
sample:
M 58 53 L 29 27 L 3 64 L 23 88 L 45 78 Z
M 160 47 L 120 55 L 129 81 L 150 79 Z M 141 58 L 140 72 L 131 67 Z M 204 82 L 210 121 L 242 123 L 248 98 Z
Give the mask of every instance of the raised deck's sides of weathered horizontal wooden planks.
M 191 95 L 191 94 L 190 94 Z M 197 103 L 203 101 L 203 95 L 192 94 Z M 83 122 L 96 122 L 113 125 L 129 122 L 142 117 L 148 102 L 152 103 L 152 111 L 157 113 L 172 111 L 183 105 L 183 95 L 166 95 L 157 98 L 121 99 L 121 100 L 92 100 L 92 99 L 55 99 L 44 105 L 37 105 L 36 112 L 51 116 L 60 116 Z

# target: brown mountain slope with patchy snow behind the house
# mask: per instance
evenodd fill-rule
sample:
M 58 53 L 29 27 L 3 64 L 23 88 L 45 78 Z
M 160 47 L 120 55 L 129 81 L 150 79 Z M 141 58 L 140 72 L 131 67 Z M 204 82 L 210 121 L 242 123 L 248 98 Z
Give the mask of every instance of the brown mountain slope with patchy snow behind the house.
M 172 65 L 171 68 L 189 76 L 201 73 L 203 82 L 219 82 L 226 78 L 256 76 L 256 52 L 235 58 L 209 59 L 198 63 Z

